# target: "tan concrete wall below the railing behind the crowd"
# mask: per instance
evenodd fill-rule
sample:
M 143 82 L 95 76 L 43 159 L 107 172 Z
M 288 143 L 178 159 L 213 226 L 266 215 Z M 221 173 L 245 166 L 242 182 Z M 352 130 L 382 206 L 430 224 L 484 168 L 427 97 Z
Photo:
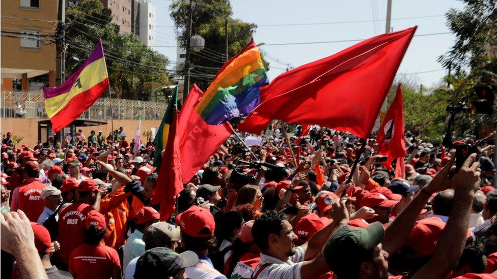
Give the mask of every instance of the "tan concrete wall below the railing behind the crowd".
M 7 132 L 12 132 L 12 134 L 24 137 L 22 143 L 27 143 L 30 146 L 34 146 L 38 142 L 38 121 L 46 119 L 26 119 L 26 118 L 0 118 L 0 129 L 2 135 Z M 103 121 L 103 120 L 102 120 Z M 119 129 L 123 127 L 124 132 L 126 132 L 126 140 L 131 142 L 134 138 L 134 133 L 136 127 L 138 127 L 139 120 L 114 120 L 114 129 Z M 142 120 L 142 141 L 146 141 L 143 137 L 143 132 L 149 131 L 150 128 L 159 128 L 160 120 Z M 85 136 L 90 135 L 91 130 L 95 130 L 96 134 L 98 131 L 102 131 L 105 137 L 111 133 L 111 121 L 107 120 L 107 125 L 94 126 L 94 127 L 81 127 Z M 42 137 L 43 138 L 43 137 Z

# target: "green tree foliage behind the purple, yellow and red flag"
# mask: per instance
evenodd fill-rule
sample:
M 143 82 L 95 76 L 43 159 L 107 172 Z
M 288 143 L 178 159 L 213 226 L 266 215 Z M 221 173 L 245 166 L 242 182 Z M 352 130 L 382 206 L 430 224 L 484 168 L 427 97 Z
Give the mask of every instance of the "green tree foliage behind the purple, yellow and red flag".
M 66 76 L 72 74 L 86 59 L 88 50 L 101 38 L 107 71 L 116 98 L 148 100 L 151 86 L 169 85 L 165 67 L 169 60 L 150 50 L 136 35 L 119 34 L 119 25 L 111 23 L 111 10 L 98 0 L 85 0 L 66 11 L 69 27 L 66 42 Z M 84 48 L 81 50 L 78 48 Z M 73 59 L 76 57 L 79 61 Z M 159 91 L 160 92 L 160 91 Z

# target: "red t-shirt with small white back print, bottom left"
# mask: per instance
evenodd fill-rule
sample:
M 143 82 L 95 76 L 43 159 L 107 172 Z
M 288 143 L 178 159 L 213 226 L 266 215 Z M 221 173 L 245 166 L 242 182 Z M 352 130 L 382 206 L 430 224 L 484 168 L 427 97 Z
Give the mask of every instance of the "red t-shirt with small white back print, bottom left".
M 103 244 L 83 244 L 72 251 L 69 258 L 69 270 L 74 272 L 75 278 L 108 279 L 112 277 L 113 268 L 121 268 L 117 251 Z

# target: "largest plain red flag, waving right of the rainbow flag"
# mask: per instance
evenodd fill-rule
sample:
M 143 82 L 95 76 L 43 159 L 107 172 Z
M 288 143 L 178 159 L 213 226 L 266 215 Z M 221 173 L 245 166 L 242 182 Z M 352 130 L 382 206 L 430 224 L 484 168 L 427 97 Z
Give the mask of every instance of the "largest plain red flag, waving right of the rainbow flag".
M 278 76 L 238 129 L 257 134 L 280 119 L 367 138 L 415 31 L 376 36 Z

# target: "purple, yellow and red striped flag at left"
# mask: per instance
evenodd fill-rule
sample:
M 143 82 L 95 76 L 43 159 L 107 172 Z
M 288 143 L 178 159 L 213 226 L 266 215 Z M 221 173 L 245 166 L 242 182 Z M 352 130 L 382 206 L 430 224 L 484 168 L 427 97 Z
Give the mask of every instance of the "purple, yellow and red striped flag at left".
M 108 87 L 102 40 L 86 61 L 64 83 L 43 88 L 45 110 L 57 133 L 89 109 Z

